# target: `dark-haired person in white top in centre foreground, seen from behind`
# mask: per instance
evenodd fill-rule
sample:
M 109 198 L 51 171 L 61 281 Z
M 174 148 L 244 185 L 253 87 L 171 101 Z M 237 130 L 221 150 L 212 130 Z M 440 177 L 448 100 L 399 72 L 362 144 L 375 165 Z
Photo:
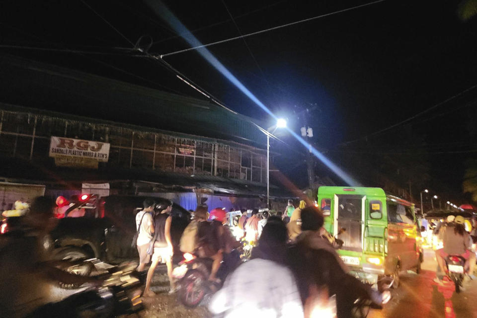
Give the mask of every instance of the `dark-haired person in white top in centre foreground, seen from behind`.
M 284 265 L 287 228 L 270 217 L 252 259 L 241 264 L 209 303 L 222 318 L 303 318 L 303 305 L 292 272 Z

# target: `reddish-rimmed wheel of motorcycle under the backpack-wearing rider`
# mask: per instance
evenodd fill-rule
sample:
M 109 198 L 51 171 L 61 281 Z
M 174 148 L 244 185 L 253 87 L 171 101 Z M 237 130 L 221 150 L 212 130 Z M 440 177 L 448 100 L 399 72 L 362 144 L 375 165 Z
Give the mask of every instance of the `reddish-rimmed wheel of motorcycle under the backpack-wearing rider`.
M 182 305 L 188 308 L 197 307 L 206 295 L 204 289 L 204 282 L 206 281 L 207 277 L 203 272 L 196 269 L 187 271 L 180 282 L 177 295 Z

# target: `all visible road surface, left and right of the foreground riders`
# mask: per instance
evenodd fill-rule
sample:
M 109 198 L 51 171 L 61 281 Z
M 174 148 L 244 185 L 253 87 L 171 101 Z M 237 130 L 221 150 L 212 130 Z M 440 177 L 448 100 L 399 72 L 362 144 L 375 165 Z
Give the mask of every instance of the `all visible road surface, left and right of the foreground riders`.
M 477 318 L 477 281 L 466 284 L 465 291 L 455 294 L 454 284 L 439 285 L 433 281 L 437 263 L 433 250 L 425 250 L 422 273 L 401 275 L 400 286 L 392 290 L 393 299 L 383 310 L 371 310 L 368 318 Z M 141 318 L 203 318 L 208 317 L 204 308 L 185 310 L 167 290 L 165 274 L 155 275 L 153 290 L 157 298 L 146 299 L 146 311 Z M 162 293 L 161 293 L 162 292 Z M 172 315 L 172 316 L 171 316 Z M 134 317 L 138 317 L 134 316 Z

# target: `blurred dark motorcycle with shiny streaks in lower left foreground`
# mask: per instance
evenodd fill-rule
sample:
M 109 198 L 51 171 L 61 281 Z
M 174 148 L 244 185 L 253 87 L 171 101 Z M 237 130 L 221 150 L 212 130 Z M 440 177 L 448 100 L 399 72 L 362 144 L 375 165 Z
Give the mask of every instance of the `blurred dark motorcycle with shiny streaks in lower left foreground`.
M 144 309 L 141 277 L 135 263 L 112 266 L 100 260 L 93 262 L 104 279 L 102 286 L 90 287 L 60 302 L 46 304 L 27 318 L 91 317 L 110 318 L 137 313 Z

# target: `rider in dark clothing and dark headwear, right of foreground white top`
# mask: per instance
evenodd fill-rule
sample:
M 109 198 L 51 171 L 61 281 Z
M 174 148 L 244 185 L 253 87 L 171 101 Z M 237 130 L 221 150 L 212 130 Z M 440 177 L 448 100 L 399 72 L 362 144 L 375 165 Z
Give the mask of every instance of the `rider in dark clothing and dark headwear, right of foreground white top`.
M 314 290 L 325 290 L 329 296 L 336 295 L 338 318 L 351 317 L 354 301 L 360 297 L 381 305 L 389 301 L 389 291 L 380 294 L 348 274 L 334 247 L 320 235 L 323 216 L 316 207 L 301 211 L 302 233 L 290 248 L 289 260 L 302 297 L 302 302 L 313 303 L 317 297 Z

